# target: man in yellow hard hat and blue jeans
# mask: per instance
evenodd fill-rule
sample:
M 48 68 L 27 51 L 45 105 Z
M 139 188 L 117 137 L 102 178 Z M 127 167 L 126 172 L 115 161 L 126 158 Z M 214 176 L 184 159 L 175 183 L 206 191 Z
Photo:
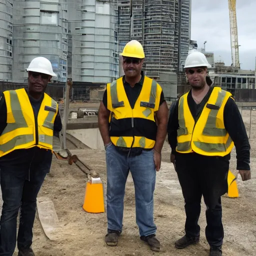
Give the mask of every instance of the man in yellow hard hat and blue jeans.
M 167 133 L 168 109 L 160 85 L 141 71 L 145 57 L 142 45 L 131 40 L 121 55 L 125 75 L 106 85 L 98 111 L 99 130 L 106 150 L 108 226 L 105 242 L 116 246 L 122 231 L 124 189 L 130 170 L 140 239 L 152 250 L 159 251 L 153 192 Z

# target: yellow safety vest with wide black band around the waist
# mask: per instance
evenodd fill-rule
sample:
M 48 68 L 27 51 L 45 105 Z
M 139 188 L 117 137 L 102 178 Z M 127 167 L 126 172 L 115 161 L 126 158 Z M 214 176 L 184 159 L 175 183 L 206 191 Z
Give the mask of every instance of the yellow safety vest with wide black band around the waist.
M 112 143 L 120 147 L 153 148 L 157 131 L 154 114 L 159 107 L 161 86 L 144 76 L 134 108 L 129 104 L 122 77 L 107 83 L 106 91 Z

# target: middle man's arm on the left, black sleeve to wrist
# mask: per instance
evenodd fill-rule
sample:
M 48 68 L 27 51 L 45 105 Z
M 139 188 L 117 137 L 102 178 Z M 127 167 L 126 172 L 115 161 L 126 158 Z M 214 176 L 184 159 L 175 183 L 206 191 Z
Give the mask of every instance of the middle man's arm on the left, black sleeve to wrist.
M 100 101 L 99 108 L 98 108 L 98 128 L 100 135 L 102 137 L 104 145 L 111 142 L 109 137 L 109 123 L 108 118 L 110 115 L 110 111 L 107 109 L 107 95 L 106 90 L 103 94 L 103 99 Z

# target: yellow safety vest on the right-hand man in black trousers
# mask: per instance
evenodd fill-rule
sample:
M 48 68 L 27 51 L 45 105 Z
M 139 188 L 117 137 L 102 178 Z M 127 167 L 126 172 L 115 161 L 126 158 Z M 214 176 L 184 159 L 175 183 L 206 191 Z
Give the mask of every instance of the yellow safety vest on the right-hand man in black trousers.
M 187 104 L 187 95 L 188 92 L 182 95 L 178 104 L 176 151 L 209 156 L 230 153 L 234 143 L 225 129 L 223 113 L 231 93 L 214 87 L 196 123 Z

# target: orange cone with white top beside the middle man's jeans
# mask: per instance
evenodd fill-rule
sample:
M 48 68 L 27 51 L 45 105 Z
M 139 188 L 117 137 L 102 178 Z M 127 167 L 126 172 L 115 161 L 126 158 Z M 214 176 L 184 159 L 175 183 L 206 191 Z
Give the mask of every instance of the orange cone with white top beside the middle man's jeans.
M 100 178 L 91 177 L 86 183 L 82 208 L 90 213 L 104 212 L 103 184 Z

